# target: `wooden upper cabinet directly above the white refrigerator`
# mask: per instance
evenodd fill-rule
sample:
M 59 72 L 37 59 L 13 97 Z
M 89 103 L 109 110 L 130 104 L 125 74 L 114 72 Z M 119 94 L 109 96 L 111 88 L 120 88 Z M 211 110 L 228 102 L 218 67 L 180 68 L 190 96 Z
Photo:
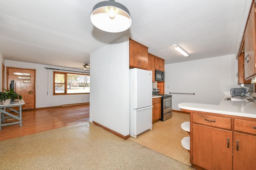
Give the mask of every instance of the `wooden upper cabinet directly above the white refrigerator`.
M 130 39 L 130 66 L 148 70 L 148 47 Z

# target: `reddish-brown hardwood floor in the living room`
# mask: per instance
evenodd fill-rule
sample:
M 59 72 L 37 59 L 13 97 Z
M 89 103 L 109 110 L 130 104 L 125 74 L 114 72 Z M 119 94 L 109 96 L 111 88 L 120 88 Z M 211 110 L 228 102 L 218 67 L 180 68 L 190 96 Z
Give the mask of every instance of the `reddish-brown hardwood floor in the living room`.
M 14 121 L 14 120 L 9 120 Z M 20 124 L 2 127 L 0 141 L 89 121 L 89 105 L 46 107 L 22 111 Z

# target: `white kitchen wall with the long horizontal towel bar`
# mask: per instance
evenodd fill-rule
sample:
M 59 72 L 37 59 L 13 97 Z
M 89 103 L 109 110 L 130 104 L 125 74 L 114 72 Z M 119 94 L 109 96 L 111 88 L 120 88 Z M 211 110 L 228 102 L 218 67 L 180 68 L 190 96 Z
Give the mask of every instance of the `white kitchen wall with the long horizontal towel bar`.
M 179 103 L 219 104 L 225 91 L 237 84 L 235 55 L 165 65 L 165 94 L 172 94 L 172 109 Z

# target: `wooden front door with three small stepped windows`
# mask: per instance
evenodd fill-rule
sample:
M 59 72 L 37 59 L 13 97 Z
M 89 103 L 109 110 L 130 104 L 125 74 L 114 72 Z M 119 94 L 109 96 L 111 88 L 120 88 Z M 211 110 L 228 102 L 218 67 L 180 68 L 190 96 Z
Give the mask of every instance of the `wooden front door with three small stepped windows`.
M 6 67 L 6 90 L 10 89 L 11 80 L 14 80 L 15 92 L 20 94 L 25 102 L 22 110 L 35 108 L 35 72 L 34 69 Z

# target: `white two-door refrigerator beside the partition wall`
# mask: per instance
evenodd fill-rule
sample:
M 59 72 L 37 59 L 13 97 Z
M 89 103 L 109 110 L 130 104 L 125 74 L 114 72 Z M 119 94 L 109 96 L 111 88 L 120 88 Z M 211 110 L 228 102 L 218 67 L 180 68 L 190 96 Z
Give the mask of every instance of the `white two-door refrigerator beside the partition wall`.
M 152 71 L 130 69 L 130 136 L 152 130 Z

